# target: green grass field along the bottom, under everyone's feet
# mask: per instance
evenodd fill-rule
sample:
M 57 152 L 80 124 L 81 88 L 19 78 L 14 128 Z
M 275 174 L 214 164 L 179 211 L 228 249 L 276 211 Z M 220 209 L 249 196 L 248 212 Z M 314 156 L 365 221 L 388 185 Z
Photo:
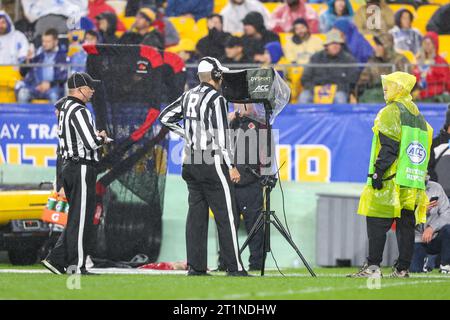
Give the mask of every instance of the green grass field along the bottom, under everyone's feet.
M 265 277 L 230 278 L 177 275 L 99 275 L 81 278 L 81 289 L 67 288 L 68 276 L 5 273 L 5 269 L 40 271 L 40 266 L 0 265 L 0 299 L 450 299 L 450 276 L 437 272 L 409 279 L 381 279 L 369 289 L 366 279 L 349 279 L 355 269 L 316 268 L 268 271 Z M 384 269 L 387 275 L 389 269 Z

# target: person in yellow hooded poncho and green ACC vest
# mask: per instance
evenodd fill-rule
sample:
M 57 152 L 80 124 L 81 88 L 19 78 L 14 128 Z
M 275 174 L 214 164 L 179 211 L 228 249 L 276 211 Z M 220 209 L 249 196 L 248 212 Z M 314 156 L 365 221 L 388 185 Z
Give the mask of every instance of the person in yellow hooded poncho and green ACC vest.
M 381 79 L 386 106 L 372 128 L 369 175 L 358 208 L 366 216 L 369 255 L 351 277 L 382 276 L 386 233 L 394 221 L 399 257 L 390 277 L 408 277 L 414 228 L 426 221 L 425 177 L 433 129 L 412 101 L 414 76 L 394 72 Z

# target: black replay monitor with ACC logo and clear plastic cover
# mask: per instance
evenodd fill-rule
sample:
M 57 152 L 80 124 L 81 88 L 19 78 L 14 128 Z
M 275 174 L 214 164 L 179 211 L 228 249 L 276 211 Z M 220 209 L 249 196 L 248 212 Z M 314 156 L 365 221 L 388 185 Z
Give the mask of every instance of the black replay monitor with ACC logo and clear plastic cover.
M 257 118 L 264 119 L 269 111 L 271 124 L 289 103 L 291 94 L 287 83 L 273 68 L 224 72 L 222 92 L 229 102 L 253 103 Z

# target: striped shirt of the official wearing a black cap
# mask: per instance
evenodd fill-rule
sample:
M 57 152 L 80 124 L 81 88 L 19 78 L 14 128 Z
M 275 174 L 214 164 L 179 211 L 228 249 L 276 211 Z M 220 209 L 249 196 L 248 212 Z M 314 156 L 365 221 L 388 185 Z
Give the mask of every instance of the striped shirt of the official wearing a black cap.
M 83 101 L 67 97 L 58 117 L 59 153 L 64 159 L 99 161 L 103 139 L 96 135 L 91 113 Z

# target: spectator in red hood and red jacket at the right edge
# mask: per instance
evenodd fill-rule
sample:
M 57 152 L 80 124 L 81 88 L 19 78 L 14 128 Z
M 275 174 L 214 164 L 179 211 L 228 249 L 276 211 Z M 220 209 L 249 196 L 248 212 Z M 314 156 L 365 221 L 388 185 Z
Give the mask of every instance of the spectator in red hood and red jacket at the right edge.
M 447 62 L 439 55 L 439 36 L 427 32 L 414 69 L 420 86 L 419 98 L 424 101 L 448 101 L 450 91 L 450 70 Z

